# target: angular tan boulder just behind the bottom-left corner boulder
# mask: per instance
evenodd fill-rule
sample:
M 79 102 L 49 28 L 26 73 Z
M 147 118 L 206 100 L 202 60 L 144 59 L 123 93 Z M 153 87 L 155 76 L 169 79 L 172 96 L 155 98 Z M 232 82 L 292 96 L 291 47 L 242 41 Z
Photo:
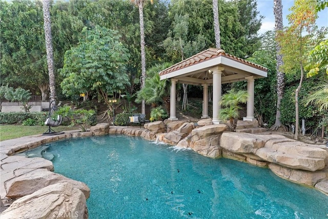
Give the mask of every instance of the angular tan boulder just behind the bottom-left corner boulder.
M 23 197 L 49 185 L 64 182 L 70 183 L 81 190 L 86 198 L 90 196 L 90 189 L 85 183 L 72 180 L 47 169 L 36 169 L 12 178 L 12 180 L 5 183 L 7 188 L 6 196 L 9 198 Z

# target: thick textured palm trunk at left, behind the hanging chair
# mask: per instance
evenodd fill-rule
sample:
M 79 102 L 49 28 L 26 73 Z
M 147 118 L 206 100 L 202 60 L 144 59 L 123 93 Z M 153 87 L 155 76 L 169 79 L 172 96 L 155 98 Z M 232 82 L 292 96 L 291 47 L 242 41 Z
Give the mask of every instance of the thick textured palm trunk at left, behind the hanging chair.
M 56 99 L 55 74 L 53 67 L 53 49 L 50 19 L 50 0 L 43 0 L 43 19 L 46 39 L 47 63 L 49 71 L 50 101 Z

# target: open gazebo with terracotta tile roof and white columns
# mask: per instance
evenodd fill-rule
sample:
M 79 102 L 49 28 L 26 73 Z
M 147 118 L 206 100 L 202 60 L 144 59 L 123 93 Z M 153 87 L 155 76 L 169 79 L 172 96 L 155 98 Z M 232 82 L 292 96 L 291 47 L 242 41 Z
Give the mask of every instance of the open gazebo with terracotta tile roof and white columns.
M 221 85 L 238 81 L 247 81 L 248 101 L 247 116 L 243 120 L 254 120 L 254 80 L 267 77 L 268 69 L 242 58 L 230 55 L 222 49 L 210 48 L 193 55 L 159 72 L 160 79 L 171 80 L 170 118 L 176 117 L 176 83 L 199 85 L 203 87 L 202 118 L 208 115 L 208 89 L 213 86 L 213 124 L 219 124 L 219 101 Z

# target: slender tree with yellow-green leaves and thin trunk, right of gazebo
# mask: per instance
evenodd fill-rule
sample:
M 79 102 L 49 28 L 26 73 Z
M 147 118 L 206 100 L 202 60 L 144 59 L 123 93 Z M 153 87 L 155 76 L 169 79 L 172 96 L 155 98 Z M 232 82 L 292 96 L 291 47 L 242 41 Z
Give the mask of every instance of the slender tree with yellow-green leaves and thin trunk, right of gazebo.
M 299 134 L 299 92 L 304 78 L 304 64 L 306 52 L 309 51 L 310 43 L 313 41 L 317 18 L 316 2 L 308 0 L 296 0 L 291 7 L 291 14 L 287 16 L 290 26 L 283 32 L 278 33 L 278 43 L 281 46 L 283 65 L 281 69 L 290 72 L 298 64 L 297 71 L 300 72 L 299 85 L 295 90 L 295 135 Z M 306 33 L 306 34 L 305 34 Z M 316 38 L 316 37 L 314 37 Z

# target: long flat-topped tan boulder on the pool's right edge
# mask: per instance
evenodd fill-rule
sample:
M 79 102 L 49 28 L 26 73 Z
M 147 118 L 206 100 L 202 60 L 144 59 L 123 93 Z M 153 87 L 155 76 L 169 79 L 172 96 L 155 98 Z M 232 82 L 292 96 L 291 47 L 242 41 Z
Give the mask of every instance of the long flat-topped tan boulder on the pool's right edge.
M 282 135 L 224 132 L 220 146 L 256 161 L 309 171 L 323 169 L 328 156 L 326 150 L 316 145 L 298 142 Z M 250 158 L 248 161 L 257 163 Z

